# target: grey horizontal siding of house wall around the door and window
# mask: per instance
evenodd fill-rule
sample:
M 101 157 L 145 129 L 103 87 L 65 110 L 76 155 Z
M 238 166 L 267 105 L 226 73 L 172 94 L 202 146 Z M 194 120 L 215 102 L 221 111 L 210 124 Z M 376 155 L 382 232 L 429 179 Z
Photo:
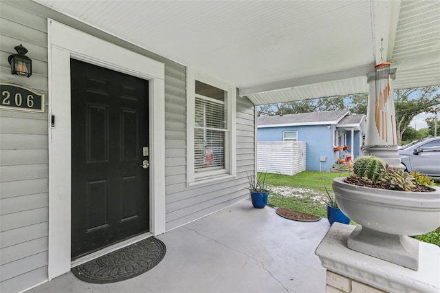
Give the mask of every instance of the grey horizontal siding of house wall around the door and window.
M 249 196 L 246 171 L 255 166 L 255 107 L 234 97 L 225 105 L 232 122 L 228 162 L 236 175 L 187 186 L 186 67 L 127 43 L 32 1 L 3 1 L 0 9 L 1 80 L 40 91 L 47 98 L 47 17 L 143 54 L 165 65 L 165 230 L 195 221 Z M 12 76 L 7 56 L 22 43 L 32 58 L 30 78 Z M 231 90 L 230 90 L 231 89 Z M 0 292 L 18 292 L 48 278 L 48 125 L 45 113 L 0 110 Z M 232 111 L 232 109 L 234 109 Z M 236 109 L 236 111 L 235 111 Z M 226 133 L 226 132 L 225 132 Z M 232 134 L 233 133 L 233 134 Z M 153 150 L 151 150 L 153 151 Z M 232 162 L 232 158 L 234 161 Z M 235 167 L 236 166 L 236 167 Z M 21 221 L 25 219 L 25 221 Z M 56 219 L 51 219 L 56 221 Z

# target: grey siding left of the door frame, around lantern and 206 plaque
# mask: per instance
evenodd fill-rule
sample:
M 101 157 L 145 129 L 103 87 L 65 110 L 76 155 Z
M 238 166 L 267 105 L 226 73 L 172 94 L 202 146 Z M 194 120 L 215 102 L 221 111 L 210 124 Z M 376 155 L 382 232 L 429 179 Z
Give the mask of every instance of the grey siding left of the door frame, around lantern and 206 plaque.
M 0 6 L 0 76 L 47 98 L 47 23 L 15 3 Z M 32 76 L 12 75 L 8 56 L 23 44 Z M 3 58 L 4 57 L 4 58 Z M 48 139 L 44 113 L 0 110 L 0 292 L 17 292 L 47 279 Z

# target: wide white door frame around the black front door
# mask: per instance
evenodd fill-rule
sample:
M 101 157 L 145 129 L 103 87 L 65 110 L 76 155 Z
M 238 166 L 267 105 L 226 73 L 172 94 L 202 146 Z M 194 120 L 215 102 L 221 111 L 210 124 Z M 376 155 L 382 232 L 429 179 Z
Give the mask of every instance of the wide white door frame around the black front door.
M 71 269 L 70 58 L 149 80 L 150 231 L 165 232 L 164 64 L 47 19 L 49 62 L 49 279 Z M 49 118 L 50 122 L 51 118 Z

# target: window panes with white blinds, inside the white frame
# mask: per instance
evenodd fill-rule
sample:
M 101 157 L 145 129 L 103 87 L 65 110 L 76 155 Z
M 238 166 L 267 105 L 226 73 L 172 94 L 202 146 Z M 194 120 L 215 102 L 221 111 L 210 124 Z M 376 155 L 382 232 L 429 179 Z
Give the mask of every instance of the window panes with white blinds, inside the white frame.
M 194 168 L 196 173 L 225 168 L 225 91 L 196 80 Z

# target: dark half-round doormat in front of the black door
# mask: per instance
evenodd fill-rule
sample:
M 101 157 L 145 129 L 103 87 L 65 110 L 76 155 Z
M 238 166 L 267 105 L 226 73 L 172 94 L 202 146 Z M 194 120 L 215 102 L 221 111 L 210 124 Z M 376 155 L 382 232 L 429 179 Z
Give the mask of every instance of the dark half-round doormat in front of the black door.
M 113 283 L 139 276 L 165 256 L 165 244 L 149 237 L 72 268 L 74 275 L 89 283 Z

